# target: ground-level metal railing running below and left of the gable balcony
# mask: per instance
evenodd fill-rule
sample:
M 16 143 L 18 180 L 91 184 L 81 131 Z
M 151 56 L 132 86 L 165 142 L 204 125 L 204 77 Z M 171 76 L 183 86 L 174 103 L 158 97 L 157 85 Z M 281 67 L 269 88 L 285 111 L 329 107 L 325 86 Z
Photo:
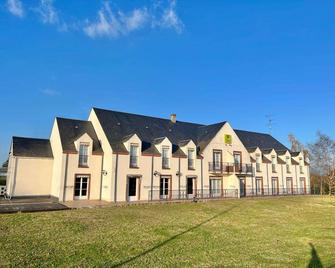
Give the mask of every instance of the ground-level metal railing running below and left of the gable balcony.
M 148 200 L 194 200 L 194 199 L 224 199 L 238 198 L 238 190 L 236 189 L 198 189 L 193 190 L 192 194 L 188 194 L 187 190 L 165 190 L 162 195 L 160 190 L 149 191 Z

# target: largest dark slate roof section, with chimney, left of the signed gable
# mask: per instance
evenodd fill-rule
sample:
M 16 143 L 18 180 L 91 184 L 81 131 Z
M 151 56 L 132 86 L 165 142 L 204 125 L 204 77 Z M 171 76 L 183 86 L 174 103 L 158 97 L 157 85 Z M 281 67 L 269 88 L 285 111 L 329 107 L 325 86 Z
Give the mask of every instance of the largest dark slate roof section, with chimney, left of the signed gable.
M 173 146 L 174 156 L 183 155 L 178 149 L 179 143 L 193 140 L 201 152 L 221 129 L 225 122 L 214 125 L 201 125 L 188 122 L 172 123 L 169 119 L 150 117 L 144 115 L 116 112 L 93 108 L 100 124 L 115 152 L 126 153 L 122 145 L 124 137 L 137 134 L 145 146 L 142 152 L 153 150 L 152 144 L 161 142 L 167 137 Z

